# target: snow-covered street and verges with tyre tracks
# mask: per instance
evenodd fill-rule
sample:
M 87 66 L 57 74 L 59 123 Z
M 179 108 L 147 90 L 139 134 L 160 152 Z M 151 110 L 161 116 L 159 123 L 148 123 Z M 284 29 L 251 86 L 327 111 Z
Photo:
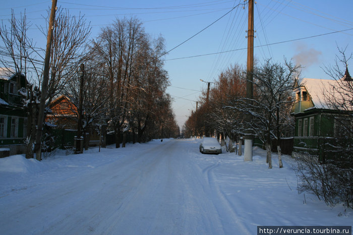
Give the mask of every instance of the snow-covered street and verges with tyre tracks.
M 299 195 L 289 156 L 268 169 L 198 140 L 0 159 L 0 234 L 256 234 L 258 225 L 353 225 L 352 210 Z M 305 197 L 305 198 L 304 198 Z

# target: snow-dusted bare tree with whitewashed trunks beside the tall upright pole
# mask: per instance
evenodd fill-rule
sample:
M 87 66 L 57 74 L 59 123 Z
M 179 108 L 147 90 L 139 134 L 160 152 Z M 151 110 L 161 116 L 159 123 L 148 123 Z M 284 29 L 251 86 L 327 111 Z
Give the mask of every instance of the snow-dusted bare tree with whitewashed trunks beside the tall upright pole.
M 254 72 L 254 99 L 241 98 L 234 108 L 253 116 L 253 134 L 263 141 L 267 150 L 268 167 L 272 168 L 271 139 L 277 139 L 279 166 L 282 167 L 280 136 L 289 116 L 291 93 L 300 66 L 284 60 L 284 64 L 267 60 Z M 250 102 L 251 101 L 251 102 Z

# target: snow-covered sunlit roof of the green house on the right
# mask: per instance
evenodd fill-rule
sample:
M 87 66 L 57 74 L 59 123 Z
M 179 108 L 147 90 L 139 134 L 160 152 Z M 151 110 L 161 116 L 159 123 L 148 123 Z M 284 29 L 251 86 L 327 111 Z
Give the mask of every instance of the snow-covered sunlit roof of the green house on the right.
M 349 98 L 347 92 L 342 88 L 346 82 L 345 77 L 339 80 L 303 78 L 301 85 L 308 91 L 315 108 L 329 109 L 329 100 L 340 102 L 340 100 Z M 346 96 L 346 98 L 341 97 L 341 95 Z

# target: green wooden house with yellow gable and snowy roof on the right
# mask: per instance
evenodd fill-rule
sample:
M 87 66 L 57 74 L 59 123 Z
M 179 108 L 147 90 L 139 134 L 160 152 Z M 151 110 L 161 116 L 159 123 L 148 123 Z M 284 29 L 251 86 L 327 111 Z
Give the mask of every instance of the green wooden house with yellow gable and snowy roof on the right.
M 295 117 L 292 155 L 305 153 L 325 161 L 335 146 L 342 145 L 342 140 L 347 146 L 352 144 L 351 134 L 345 128 L 351 128 L 353 109 L 349 112 L 327 105 L 327 92 L 334 95 L 331 91 L 338 87 L 336 80 L 304 78 L 301 82 L 296 81 L 295 102 L 291 109 Z

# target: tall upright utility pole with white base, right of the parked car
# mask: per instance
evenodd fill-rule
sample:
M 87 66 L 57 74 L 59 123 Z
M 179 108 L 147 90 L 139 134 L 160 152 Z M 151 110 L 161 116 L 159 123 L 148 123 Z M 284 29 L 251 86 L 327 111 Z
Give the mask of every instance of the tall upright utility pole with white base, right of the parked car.
M 248 13 L 248 61 L 247 61 L 247 98 L 253 99 L 253 72 L 254 72 L 254 0 L 249 0 Z M 250 101 L 252 103 L 252 101 Z M 250 130 L 252 115 L 245 117 L 247 131 L 244 141 L 244 161 L 253 160 L 253 136 Z

